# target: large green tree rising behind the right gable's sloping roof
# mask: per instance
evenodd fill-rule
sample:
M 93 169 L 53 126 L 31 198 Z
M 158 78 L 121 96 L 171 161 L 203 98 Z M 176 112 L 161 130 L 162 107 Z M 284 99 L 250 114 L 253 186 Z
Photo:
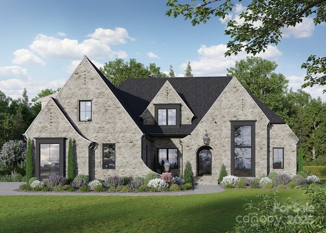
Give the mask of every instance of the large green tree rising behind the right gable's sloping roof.
M 227 69 L 228 76 L 235 76 L 244 88 L 252 92 L 271 110 L 288 120 L 284 106 L 288 80 L 283 74 L 276 74 L 276 62 L 259 57 L 247 57 Z

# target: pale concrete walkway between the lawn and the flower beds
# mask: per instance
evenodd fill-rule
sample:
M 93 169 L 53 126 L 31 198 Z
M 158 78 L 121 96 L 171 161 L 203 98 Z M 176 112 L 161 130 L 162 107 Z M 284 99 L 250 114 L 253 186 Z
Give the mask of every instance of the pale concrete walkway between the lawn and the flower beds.
M 70 196 L 161 196 L 161 195 L 189 195 L 219 193 L 224 189 L 218 185 L 196 185 L 194 190 L 181 192 L 143 192 L 143 193 L 109 193 L 109 192 L 23 192 L 16 191 L 25 182 L 0 182 L 0 196 L 8 195 L 70 195 Z

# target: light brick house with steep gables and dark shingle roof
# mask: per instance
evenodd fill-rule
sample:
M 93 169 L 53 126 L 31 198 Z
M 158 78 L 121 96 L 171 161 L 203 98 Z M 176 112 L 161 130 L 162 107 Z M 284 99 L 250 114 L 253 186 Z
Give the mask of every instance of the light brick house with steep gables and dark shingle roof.
M 42 101 L 24 134 L 37 177 L 66 175 L 69 138 L 76 173 L 91 178 L 145 176 L 166 160 L 174 174 L 189 161 L 199 184 L 217 184 L 222 164 L 237 176 L 296 174 L 298 139 L 235 77 L 129 79 L 116 88 L 84 57 Z

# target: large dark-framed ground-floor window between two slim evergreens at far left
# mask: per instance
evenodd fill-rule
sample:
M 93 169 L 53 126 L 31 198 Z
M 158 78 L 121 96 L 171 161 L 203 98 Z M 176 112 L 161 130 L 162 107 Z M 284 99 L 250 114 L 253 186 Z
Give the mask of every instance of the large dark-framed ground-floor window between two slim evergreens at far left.
M 36 138 L 35 176 L 64 176 L 65 138 Z

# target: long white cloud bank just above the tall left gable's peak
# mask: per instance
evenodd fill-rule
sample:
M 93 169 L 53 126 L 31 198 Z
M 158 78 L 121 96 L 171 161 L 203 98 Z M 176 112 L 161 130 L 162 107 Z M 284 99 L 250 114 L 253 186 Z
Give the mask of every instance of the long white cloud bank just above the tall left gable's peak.
M 31 50 L 45 59 L 80 59 L 84 55 L 93 58 L 113 58 L 114 51 L 99 40 L 89 39 L 78 43 L 77 40 L 58 39 L 39 34 L 29 46 Z

